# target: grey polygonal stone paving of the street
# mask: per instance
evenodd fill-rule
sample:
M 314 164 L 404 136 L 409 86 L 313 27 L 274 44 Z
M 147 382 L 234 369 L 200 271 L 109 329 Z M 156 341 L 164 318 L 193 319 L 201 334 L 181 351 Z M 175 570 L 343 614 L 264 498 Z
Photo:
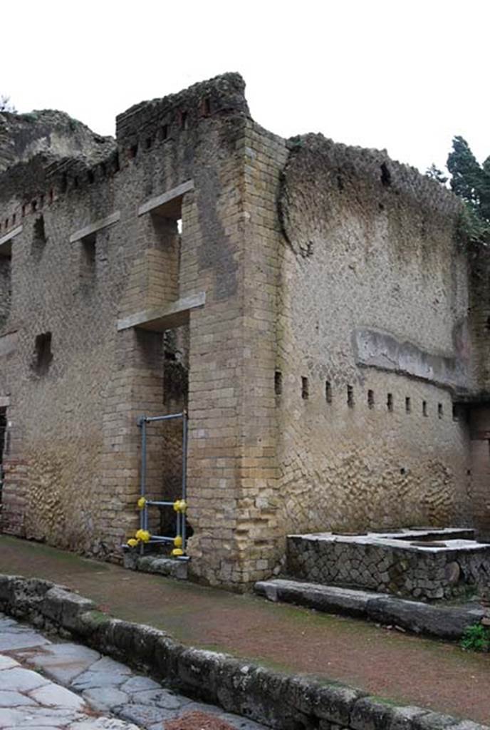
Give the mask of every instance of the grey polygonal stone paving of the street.
M 211 715 L 232 730 L 265 730 L 0 614 L 1 730 L 165 730 L 167 722 L 186 715 L 208 721 Z

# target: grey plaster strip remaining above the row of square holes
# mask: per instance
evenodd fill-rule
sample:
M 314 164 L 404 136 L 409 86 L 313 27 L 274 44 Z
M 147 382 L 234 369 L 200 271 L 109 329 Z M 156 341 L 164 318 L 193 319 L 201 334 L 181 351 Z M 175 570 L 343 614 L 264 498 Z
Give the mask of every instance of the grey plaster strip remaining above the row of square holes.
M 354 329 L 352 347 L 361 366 L 391 370 L 451 388 L 467 385 L 467 364 L 462 359 L 428 353 L 412 342 L 400 342 L 387 332 Z

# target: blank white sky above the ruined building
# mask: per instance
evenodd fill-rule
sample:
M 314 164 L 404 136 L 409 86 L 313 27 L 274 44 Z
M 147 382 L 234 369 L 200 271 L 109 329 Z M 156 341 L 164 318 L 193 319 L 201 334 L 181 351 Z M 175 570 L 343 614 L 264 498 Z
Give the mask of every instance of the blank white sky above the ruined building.
M 490 155 L 488 0 L 10 0 L 0 93 L 101 134 L 142 99 L 225 71 L 290 137 L 386 148 L 424 171 L 454 134 Z

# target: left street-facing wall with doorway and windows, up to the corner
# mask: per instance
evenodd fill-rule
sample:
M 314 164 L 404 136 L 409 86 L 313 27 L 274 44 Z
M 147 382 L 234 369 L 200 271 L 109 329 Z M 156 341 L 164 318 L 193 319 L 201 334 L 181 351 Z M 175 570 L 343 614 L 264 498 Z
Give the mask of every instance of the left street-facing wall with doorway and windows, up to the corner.
M 118 323 L 204 293 L 206 306 L 187 311 L 184 348 L 190 553 L 204 580 L 240 583 L 234 528 L 243 87 L 230 74 L 133 107 L 117 120 L 117 153 L 95 166 L 38 155 L 4 173 L 7 234 L 21 226 L 12 238 L 12 309 L 4 327 L 4 337 L 15 331 L 16 341 L 1 361 L 0 395 L 10 396 L 12 421 L 7 531 L 120 557 L 121 542 L 138 524 L 137 417 L 173 406 L 163 403 L 163 329 L 118 330 Z M 170 196 L 171 210 L 144 209 L 184 183 L 184 193 Z M 0 347 L 6 342 L 1 338 Z M 160 498 L 163 440 L 157 432 L 148 445 L 149 494 Z M 171 472 L 178 468 L 172 464 Z

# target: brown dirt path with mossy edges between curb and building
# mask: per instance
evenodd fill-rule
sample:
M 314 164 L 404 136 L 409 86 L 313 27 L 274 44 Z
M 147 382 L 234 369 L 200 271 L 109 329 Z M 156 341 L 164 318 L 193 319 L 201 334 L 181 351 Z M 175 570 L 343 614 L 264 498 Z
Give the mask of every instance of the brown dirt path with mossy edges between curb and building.
M 490 723 L 490 655 L 363 621 L 133 573 L 4 536 L 0 572 L 63 583 L 114 616 L 166 629 L 189 645 Z

